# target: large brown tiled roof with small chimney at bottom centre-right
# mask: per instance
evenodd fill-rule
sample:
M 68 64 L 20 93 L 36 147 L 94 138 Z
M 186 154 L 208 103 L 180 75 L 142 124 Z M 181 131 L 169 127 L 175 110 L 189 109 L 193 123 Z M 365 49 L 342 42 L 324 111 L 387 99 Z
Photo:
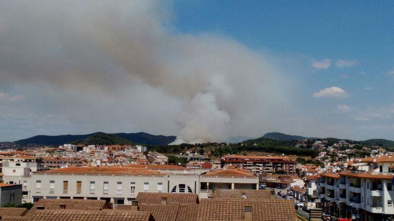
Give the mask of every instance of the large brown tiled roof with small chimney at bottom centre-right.
M 203 199 L 197 221 L 244 220 L 245 207 L 251 209 L 255 221 L 295 221 L 296 211 L 291 200 Z

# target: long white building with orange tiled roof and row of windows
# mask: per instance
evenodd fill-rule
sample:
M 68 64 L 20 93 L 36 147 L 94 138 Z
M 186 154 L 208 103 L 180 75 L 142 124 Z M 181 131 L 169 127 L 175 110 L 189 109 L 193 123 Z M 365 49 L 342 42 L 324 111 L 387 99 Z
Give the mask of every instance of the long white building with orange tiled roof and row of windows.
M 95 199 L 131 204 L 140 192 L 196 193 L 208 198 L 216 188 L 257 189 L 258 176 L 243 169 L 208 173 L 174 165 L 67 167 L 24 177 L 25 202 L 39 199 Z M 163 167 L 163 168 L 161 168 Z M 185 173 L 186 171 L 186 173 Z M 201 190 L 203 189 L 203 190 Z

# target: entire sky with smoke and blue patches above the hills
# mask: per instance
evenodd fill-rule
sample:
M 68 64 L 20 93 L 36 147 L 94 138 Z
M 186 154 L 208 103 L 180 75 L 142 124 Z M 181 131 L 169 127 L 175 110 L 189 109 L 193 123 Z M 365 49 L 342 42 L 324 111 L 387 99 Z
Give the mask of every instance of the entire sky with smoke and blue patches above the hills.
M 0 1 L 0 141 L 394 139 L 392 1 Z

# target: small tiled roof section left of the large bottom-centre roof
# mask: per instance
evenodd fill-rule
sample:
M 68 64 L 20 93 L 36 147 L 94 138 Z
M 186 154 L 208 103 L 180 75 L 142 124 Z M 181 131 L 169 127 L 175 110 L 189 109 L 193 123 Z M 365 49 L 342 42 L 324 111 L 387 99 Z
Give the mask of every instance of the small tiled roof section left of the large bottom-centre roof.
M 155 221 L 175 221 L 179 204 L 142 204 L 139 211 L 150 212 Z

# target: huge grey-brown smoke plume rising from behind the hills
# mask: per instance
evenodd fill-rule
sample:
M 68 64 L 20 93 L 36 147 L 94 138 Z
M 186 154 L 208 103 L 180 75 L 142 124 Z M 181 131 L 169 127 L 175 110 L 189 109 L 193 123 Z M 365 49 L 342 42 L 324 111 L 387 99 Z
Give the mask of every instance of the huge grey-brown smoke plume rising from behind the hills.
M 2 2 L 0 87 L 51 87 L 56 96 L 75 97 L 69 105 L 85 114 L 81 106 L 102 103 L 78 96 L 95 94 L 111 105 L 118 99 L 131 110 L 135 88 L 156 91 L 179 104 L 147 111 L 177 113 L 162 116 L 178 125 L 174 143 L 256 136 L 286 125 L 286 81 L 266 57 L 223 36 L 177 31 L 171 8 L 156 1 Z M 93 115 L 99 120 L 108 112 Z M 141 116 L 134 119 L 136 128 L 150 122 Z

